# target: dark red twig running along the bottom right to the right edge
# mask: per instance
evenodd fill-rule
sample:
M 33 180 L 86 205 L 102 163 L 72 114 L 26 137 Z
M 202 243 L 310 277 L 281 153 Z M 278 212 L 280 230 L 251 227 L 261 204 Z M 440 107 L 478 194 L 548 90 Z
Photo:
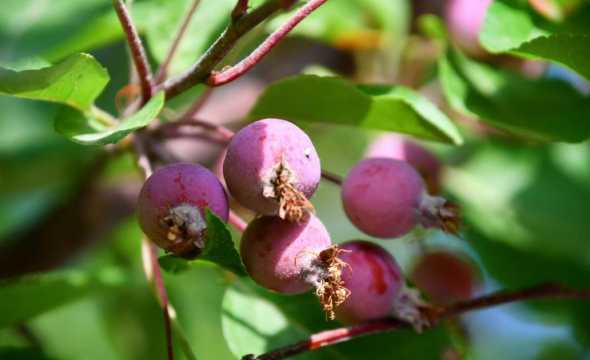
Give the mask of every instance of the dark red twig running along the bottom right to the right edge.
M 514 292 L 501 291 L 476 299 L 458 302 L 445 308 L 433 311 L 430 315 L 430 327 L 436 326 L 441 320 L 463 314 L 468 311 L 480 310 L 492 306 L 508 304 L 514 301 L 534 299 L 580 299 L 590 300 L 590 290 L 572 289 L 558 284 L 542 284 Z M 255 356 L 246 355 L 242 360 L 280 360 L 305 352 L 314 351 L 325 346 L 349 341 L 358 337 L 379 334 L 398 329 L 411 328 L 411 324 L 393 319 L 381 319 L 364 324 L 342 327 L 323 331 L 308 339 Z

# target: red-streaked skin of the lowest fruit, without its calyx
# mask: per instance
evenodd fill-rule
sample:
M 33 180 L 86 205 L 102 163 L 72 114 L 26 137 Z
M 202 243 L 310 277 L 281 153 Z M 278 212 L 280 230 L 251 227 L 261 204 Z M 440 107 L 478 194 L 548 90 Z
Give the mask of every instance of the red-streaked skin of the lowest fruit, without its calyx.
M 344 250 L 340 259 L 350 266 L 350 270 L 343 270 L 342 280 L 351 294 L 336 308 L 336 318 L 354 324 L 391 316 L 404 282 L 393 256 L 362 240 L 340 244 L 339 248 Z

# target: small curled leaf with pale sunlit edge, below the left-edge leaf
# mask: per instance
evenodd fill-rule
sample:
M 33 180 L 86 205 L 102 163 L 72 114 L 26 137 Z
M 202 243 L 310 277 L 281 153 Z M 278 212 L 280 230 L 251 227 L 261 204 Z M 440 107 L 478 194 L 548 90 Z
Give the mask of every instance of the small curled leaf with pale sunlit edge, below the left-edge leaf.
M 55 129 L 68 139 L 83 145 L 114 144 L 133 131 L 146 127 L 163 107 L 164 92 L 159 92 L 141 110 L 110 127 L 104 124 L 104 120 L 99 120 L 105 115 L 97 110 L 84 115 L 75 109 L 64 107 L 55 119 Z

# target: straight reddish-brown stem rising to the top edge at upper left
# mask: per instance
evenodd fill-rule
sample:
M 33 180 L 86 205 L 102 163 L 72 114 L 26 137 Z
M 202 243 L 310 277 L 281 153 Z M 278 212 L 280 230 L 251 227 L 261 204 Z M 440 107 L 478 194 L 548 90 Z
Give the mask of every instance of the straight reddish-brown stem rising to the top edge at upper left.
M 152 72 L 150 70 L 145 49 L 123 0 L 113 0 L 113 6 L 115 7 L 115 11 L 117 12 L 117 16 L 119 17 L 119 21 L 121 22 L 121 26 L 127 37 L 127 43 L 131 50 L 131 57 L 135 64 L 135 68 L 137 69 L 139 83 L 141 85 L 142 103 L 146 103 L 154 94 L 154 86 Z

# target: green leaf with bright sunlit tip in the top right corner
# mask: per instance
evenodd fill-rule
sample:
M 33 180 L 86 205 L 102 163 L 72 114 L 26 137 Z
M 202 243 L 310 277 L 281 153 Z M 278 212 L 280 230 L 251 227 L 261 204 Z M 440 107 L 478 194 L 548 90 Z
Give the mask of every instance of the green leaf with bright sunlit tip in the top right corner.
M 539 19 L 522 2 L 496 0 L 480 33 L 482 45 L 493 53 L 544 59 L 564 65 L 590 79 L 590 8 L 559 27 Z

